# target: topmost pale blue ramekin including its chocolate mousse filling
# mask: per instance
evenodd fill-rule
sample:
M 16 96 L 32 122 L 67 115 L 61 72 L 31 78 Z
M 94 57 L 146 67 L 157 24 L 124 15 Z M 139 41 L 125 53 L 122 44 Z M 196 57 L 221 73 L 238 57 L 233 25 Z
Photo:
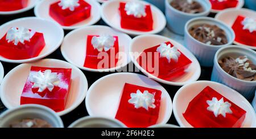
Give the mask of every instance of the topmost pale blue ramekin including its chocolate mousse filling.
M 165 2 L 167 27 L 176 34 L 184 35 L 184 26 L 188 20 L 209 15 L 212 8 L 209 1 L 192 0 L 192 5 L 187 2 L 191 1 L 166 0 Z

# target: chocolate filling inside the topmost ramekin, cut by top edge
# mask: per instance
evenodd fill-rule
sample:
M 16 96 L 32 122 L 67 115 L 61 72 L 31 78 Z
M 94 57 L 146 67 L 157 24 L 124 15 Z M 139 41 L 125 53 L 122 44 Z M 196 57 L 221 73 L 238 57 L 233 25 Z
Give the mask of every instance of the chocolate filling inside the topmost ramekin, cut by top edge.
M 203 6 L 197 1 L 193 0 L 173 0 L 170 5 L 179 11 L 190 14 L 197 14 L 204 11 Z

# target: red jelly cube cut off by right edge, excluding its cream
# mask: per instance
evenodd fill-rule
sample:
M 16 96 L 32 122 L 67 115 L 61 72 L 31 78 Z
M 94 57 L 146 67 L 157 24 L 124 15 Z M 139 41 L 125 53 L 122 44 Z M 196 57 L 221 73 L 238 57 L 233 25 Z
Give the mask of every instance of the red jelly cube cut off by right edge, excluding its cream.
M 250 32 L 249 29 L 243 29 L 243 20 L 245 20 L 245 17 L 241 15 L 237 16 L 232 26 L 236 34 L 235 41 L 244 45 L 256 46 L 256 31 Z

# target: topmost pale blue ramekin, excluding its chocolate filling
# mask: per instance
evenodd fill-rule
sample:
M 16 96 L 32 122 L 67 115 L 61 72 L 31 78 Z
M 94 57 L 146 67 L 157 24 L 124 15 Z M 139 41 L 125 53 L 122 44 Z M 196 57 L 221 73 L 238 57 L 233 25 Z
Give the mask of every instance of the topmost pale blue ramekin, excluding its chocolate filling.
M 165 0 L 167 27 L 170 28 L 171 31 L 180 35 L 184 35 L 184 27 L 188 20 L 200 16 L 207 16 L 210 14 L 211 5 L 209 1 L 196 1 L 200 3 L 200 5 L 204 8 L 204 11 L 197 14 L 190 14 L 179 11 L 172 7 L 170 5 L 172 0 Z

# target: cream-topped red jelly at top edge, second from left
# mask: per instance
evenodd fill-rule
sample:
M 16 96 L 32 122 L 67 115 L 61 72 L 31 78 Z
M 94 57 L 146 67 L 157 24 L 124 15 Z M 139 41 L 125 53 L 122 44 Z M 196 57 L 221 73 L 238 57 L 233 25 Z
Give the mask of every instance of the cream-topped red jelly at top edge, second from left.
M 84 0 L 61 0 L 49 7 L 49 15 L 59 24 L 70 26 L 90 17 L 92 6 Z

